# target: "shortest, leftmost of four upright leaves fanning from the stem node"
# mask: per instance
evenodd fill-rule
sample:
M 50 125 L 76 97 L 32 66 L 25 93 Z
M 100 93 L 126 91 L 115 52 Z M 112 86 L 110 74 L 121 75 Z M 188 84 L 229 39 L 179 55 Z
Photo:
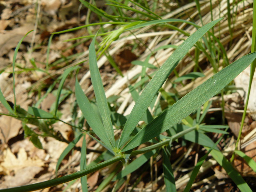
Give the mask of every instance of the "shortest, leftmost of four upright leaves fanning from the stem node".
M 109 148 L 112 148 L 111 143 L 109 142 L 108 138 L 106 137 L 105 133 L 102 132 L 104 129 L 104 126 L 101 122 L 100 117 L 98 116 L 97 112 L 95 112 L 92 108 L 92 105 L 88 98 L 85 96 L 80 84 L 78 83 L 76 79 L 75 84 L 75 94 L 76 94 L 76 101 L 81 109 L 84 118 L 88 122 L 88 124 L 91 126 L 93 132 L 107 145 Z

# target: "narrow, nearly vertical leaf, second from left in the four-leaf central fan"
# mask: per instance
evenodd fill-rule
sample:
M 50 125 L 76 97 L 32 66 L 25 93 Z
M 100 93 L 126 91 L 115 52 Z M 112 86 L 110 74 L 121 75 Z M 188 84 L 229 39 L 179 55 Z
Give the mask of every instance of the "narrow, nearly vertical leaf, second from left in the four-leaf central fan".
M 90 66 L 90 72 L 91 72 L 92 85 L 93 85 L 93 90 L 95 93 L 97 105 L 100 109 L 100 116 L 102 118 L 103 125 L 104 125 L 104 129 L 101 130 L 101 132 L 106 134 L 107 138 L 112 144 L 112 147 L 115 148 L 116 142 L 115 142 L 114 130 L 113 130 L 113 126 L 110 118 L 110 111 L 108 108 L 108 102 L 107 102 L 106 94 L 102 84 L 100 71 L 97 65 L 96 52 L 94 47 L 95 39 L 96 39 L 96 36 L 93 38 L 92 43 L 89 46 L 89 66 Z

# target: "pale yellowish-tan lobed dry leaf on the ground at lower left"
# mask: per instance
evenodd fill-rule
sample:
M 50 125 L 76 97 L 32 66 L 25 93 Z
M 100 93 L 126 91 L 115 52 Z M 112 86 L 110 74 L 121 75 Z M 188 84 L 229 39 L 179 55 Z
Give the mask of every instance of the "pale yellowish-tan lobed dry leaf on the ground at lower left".
M 38 157 L 28 157 L 24 148 L 20 148 L 17 157 L 10 148 L 4 150 L 4 161 L 0 164 L 0 172 L 10 175 L 10 172 L 17 173 L 25 167 L 42 167 L 44 162 Z

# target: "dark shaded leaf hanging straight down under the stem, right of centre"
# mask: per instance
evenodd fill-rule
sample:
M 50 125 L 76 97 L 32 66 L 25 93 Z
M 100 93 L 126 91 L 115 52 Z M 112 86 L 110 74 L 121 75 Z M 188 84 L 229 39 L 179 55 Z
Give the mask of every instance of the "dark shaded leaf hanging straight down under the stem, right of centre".
M 170 162 L 168 152 L 165 148 L 163 150 L 163 170 L 166 192 L 176 192 L 175 179 L 172 172 L 172 164 Z

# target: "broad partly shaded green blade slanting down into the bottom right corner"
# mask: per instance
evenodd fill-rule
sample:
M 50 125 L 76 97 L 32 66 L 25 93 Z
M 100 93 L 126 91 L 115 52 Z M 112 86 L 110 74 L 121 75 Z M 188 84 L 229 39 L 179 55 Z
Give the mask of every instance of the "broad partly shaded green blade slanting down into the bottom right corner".
M 209 150 L 209 148 L 205 148 Z M 223 156 L 220 151 L 213 149 L 211 151 L 211 154 L 213 158 L 218 162 L 218 164 L 220 164 L 220 166 L 222 166 L 226 170 L 228 176 L 234 181 L 234 183 L 241 190 L 241 192 L 252 192 L 252 189 L 245 182 L 244 178 L 239 174 L 239 172 L 235 170 L 232 164 L 226 159 L 225 156 Z

